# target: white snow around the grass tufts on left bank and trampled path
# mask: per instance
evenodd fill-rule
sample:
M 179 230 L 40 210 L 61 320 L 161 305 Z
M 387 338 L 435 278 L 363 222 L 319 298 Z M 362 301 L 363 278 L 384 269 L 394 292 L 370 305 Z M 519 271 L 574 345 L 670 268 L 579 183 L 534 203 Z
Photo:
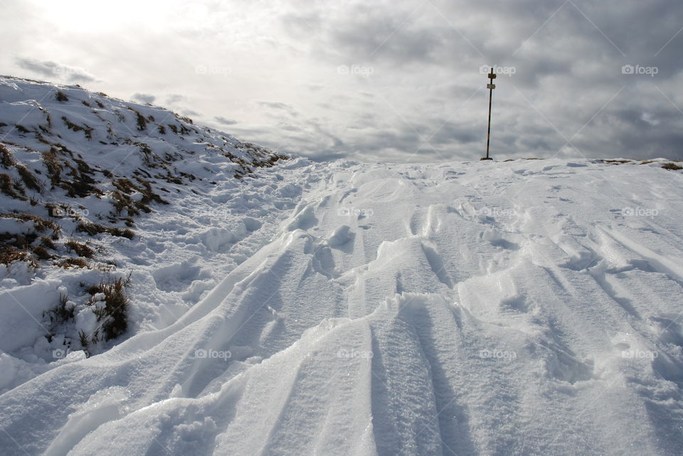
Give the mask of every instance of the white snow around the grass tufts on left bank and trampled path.
M 68 101 L 58 101 L 58 92 L 65 94 Z M 18 112 L 18 107 L 33 110 Z M 136 124 L 136 113 L 147 119 L 143 131 Z M 78 257 L 75 249 L 66 245 L 68 240 L 88 244 L 96 252 L 88 269 L 66 270 L 49 263 L 38 269 L 24 262 L 0 265 L 0 350 L 11 354 L 18 364 L 28 362 L 29 370 L 36 374 L 69 352 L 85 348 L 81 347 L 79 333 L 83 330 L 92 334 L 95 309 L 90 305 L 96 301 L 85 288 L 132 273 L 129 335 L 165 327 L 201 300 L 237 264 L 268 243 L 277 221 L 287 217 L 301 194 L 300 188 L 282 183 L 282 176 L 268 168 L 260 168 L 258 180 L 248 174 L 241 180 L 234 178 L 236 171 L 245 173 L 249 163 L 270 158 L 265 149 L 194 126 L 165 109 L 112 99 L 78 86 L 0 77 L 0 117 L 0 138 L 12 159 L 25 165 L 43 185 L 42 192 L 27 194 L 38 200 L 38 205 L 0 193 L 2 215 L 8 216 L 0 217 L 0 233 L 25 236 L 36 231 L 35 222 L 14 217 L 16 211 L 58 226 L 62 236 L 54 240 L 58 254 Z M 90 129 L 90 137 L 70 129 L 63 117 Z M 165 126 L 166 132 L 161 133 L 157 126 Z M 174 133 L 171 126 L 179 133 Z M 142 143 L 152 150 L 152 158 L 139 150 L 137 144 Z M 65 160 L 60 162 L 64 177 L 68 178 L 64 163 L 80 165 L 71 159 L 82 160 L 92 168 L 90 177 L 95 179 L 101 195 L 73 197 L 51 185 L 43 154 L 55 147 L 69 151 L 63 156 L 55 153 Z M 164 180 L 160 169 L 172 179 Z M 21 181 L 12 165 L 2 165 L 0 171 Z M 134 239 L 106 233 L 90 236 L 77 229 L 80 220 L 128 227 L 122 221 L 112 222 L 117 188 L 111 180 L 102 178 L 107 171 L 112 178 L 130 178 L 134 183 L 139 176 L 154 177 L 147 182 L 169 202 L 147 203 L 152 212 L 134 217 Z M 280 188 L 282 192 L 278 192 Z M 131 201 L 144 201 L 139 191 L 128 196 Z M 59 205 L 50 208 L 46 203 Z M 125 210 L 122 215 L 126 215 Z M 33 242 L 38 243 L 39 239 Z M 46 315 L 60 296 L 68 298 L 68 305 L 75 305 L 73 324 L 57 325 Z M 97 322 L 95 327 L 99 325 Z M 46 335 L 51 335 L 47 343 Z M 115 342 L 91 344 L 88 351 L 95 354 Z M 6 365 L 10 369 L 10 364 Z M 3 376 L 0 392 L 30 378 L 28 374 Z

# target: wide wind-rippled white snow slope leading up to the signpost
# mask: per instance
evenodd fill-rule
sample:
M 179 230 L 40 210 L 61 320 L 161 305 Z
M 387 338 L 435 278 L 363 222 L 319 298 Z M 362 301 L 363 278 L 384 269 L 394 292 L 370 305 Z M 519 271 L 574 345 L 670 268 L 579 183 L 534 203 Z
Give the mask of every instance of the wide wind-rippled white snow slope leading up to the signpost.
M 272 241 L 176 322 L 6 391 L 0 448 L 679 454 L 683 175 L 663 164 L 275 165 L 248 183 L 298 201 Z

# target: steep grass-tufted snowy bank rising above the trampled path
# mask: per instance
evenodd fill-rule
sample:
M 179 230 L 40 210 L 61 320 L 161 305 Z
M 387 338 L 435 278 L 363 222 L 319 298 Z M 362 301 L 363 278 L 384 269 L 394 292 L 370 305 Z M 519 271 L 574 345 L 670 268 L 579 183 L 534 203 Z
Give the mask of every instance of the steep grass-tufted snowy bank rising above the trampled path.
M 2 216 L 21 222 L 48 224 L 25 214 L 66 217 L 78 232 L 132 237 L 132 217 L 197 191 L 187 183 L 242 178 L 286 158 L 165 109 L 78 86 L 2 77 L 0 103 L 0 191 L 14 200 Z M 57 240 L 66 227 L 53 223 Z M 21 245 L 5 243 L 6 255 L 18 255 L 13 246 Z

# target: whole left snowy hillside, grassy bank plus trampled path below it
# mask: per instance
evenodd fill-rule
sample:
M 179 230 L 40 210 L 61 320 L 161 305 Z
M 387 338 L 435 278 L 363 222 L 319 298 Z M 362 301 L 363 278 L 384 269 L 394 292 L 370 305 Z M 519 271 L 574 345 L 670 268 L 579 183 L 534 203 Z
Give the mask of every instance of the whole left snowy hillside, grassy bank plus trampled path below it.
M 159 107 L 0 77 L 0 393 L 175 322 L 296 205 L 265 171 L 284 158 Z

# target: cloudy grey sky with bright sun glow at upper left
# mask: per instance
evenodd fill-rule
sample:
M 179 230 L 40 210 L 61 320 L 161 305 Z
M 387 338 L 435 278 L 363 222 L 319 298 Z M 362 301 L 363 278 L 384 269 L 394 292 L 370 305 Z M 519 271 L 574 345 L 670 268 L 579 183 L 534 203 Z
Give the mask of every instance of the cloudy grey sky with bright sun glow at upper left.
M 679 0 L 2 0 L 0 73 L 315 160 L 683 158 Z

